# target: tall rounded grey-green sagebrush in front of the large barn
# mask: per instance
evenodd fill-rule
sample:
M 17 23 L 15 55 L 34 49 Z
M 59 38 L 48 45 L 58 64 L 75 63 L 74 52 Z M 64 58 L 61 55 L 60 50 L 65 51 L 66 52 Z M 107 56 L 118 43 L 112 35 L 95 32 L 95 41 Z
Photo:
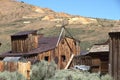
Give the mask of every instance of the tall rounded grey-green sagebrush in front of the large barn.
M 32 66 L 31 80 L 46 80 L 55 75 L 56 64 L 41 61 Z

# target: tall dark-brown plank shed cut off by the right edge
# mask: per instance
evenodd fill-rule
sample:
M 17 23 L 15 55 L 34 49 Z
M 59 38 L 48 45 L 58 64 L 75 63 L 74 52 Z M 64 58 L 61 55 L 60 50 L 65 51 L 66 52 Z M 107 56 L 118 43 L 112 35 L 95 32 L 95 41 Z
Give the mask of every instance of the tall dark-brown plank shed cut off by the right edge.
M 115 27 L 109 32 L 110 60 L 109 73 L 114 80 L 120 80 L 120 27 Z

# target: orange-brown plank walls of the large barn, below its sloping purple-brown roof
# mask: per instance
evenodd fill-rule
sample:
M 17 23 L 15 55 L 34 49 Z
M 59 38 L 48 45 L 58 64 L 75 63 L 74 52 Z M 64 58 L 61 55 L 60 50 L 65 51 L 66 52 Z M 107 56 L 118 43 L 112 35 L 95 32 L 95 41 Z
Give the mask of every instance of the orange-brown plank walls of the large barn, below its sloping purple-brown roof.
M 59 69 L 64 69 L 72 54 L 79 54 L 79 46 L 71 38 L 62 39 L 58 46 L 53 49 L 38 55 L 38 60 L 55 60 Z

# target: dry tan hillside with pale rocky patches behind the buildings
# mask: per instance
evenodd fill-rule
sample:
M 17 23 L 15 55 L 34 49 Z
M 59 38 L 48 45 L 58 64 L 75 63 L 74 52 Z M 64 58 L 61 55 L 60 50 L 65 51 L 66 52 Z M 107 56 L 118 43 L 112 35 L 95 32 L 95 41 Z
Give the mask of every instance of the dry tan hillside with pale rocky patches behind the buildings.
M 55 12 L 15 0 L 0 0 L 0 52 L 10 50 L 10 35 L 23 30 L 40 30 L 45 36 L 58 35 L 62 24 L 77 39 L 82 49 L 105 41 L 112 27 L 120 26 L 120 21 L 88 18 Z

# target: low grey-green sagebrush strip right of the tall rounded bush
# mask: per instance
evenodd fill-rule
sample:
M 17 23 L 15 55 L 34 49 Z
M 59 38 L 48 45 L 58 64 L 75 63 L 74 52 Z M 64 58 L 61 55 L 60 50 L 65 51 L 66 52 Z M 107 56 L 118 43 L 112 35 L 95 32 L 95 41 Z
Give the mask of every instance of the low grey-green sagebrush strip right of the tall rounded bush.
M 55 76 L 48 80 L 112 80 L 109 75 L 100 76 L 99 73 L 82 72 L 79 70 L 57 70 Z

